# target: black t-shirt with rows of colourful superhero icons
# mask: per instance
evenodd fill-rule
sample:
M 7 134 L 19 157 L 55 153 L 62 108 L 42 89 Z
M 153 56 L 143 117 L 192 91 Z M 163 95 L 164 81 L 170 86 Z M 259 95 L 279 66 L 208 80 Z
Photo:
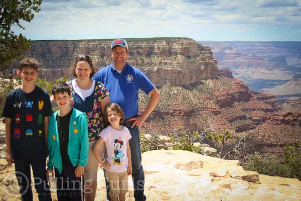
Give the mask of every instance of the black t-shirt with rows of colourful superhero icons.
M 6 99 L 3 117 L 11 118 L 11 149 L 14 158 L 46 157 L 44 117 L 52 114 L 50 98 L 36 86 L 31 93 L 12 90 Z

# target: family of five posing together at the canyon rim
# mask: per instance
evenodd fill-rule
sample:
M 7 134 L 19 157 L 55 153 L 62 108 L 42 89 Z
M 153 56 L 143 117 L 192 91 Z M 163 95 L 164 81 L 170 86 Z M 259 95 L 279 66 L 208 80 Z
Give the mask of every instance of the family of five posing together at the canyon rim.
M 88 55 L 79 55 L 71 67 L 76 78 L 55 83 L 50 95 L 35 85 L 37 60 L 21 61 L 23 83 L 8 94 L 2 116 L 6 160 L 15 163 L 22 200 L 33 200 L 31 168 L 39 200 L 52 200 L 52 178 L 59 201 L 94 200 L 99 165 L 107 200 L 125 200 L 130 174 L 134 199 L 146 200 L 138 127 L 155 109 L 160 92 L 127 57 L 123 39 L 112 42 L 112 62 L 98 71 Z M 150 98 L 139 113 L 140 89 Z

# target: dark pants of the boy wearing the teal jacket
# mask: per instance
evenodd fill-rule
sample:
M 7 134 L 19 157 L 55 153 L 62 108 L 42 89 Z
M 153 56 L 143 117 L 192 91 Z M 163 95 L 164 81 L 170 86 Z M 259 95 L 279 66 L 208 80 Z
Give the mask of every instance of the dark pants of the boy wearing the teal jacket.
M 75 167 L 63 167 L 62 173 L 55 170 L 58 201 L 82 201 L 84 200 L 84 176 L 75 176 Z

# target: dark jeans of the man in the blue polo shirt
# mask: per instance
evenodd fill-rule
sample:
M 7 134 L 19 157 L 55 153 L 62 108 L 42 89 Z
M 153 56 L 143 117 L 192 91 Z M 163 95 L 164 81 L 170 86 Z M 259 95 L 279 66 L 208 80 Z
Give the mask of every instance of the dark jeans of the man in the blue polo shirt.
M 144 201 L 146 200 L 146 196 L 144 195 L 144 171 L 141 165 L 141 151 L 140 151 L 140 138 L 139 138 L 139 129 L 137 126 L 134 128 L 130 128 L 132 123 L 123 124 L 130 134 L 131 139 L 129 140 L 130 153 L 131 153 L 131 161 L 132 161 L 132 180 L 134 187 L 134 198 L 135 201 Z M 105 169 L 103 169 L 105 175 Z M 107 190 L 107 199 L 109 198 L 109 184 L 105 179 L 106 190 Z

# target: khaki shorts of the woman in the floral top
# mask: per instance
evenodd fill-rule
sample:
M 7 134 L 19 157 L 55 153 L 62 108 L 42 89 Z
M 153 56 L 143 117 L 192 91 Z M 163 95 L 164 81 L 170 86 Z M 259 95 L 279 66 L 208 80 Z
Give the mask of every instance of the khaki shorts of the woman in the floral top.
M 87 187 L 89 186 L 89 183 L 97 181 L 97 170 L 98 170 L 99 163 L 92 151 L 92 146 L 94 143 L 95 141 L 89 142 L 88 162 L 87 162 L 87 166 L 85 167 L 84 180 L 85 180 L 85 186 Z

